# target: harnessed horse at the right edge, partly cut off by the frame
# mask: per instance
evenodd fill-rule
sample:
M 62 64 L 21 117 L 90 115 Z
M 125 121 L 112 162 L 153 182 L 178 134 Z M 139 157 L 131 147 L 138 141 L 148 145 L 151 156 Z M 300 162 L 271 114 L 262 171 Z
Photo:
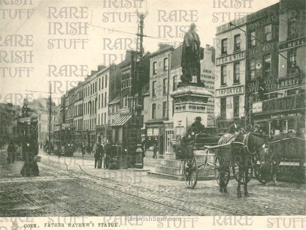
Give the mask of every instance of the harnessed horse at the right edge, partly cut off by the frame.
M 303 132 L 279 133 L 265 148 L 267 151 L 263 160 L 267 165 L 272 166 L 271 174 L 275 186 L 280 162 L 285 159 L 297 160 L 303 169 L 305 163 L 305 135 Z

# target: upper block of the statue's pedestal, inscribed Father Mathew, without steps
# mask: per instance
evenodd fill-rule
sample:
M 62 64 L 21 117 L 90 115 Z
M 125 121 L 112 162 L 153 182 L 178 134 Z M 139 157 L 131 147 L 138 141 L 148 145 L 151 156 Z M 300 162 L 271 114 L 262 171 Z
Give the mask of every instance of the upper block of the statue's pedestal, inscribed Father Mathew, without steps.
M 170 96 L 174 102 L 174 136 L 185 136 L 196 117 L 202 118 L 202 125 L 207 126 L 207 102 L 212 96 L 205 88 L 195 83 L 178 84 Z

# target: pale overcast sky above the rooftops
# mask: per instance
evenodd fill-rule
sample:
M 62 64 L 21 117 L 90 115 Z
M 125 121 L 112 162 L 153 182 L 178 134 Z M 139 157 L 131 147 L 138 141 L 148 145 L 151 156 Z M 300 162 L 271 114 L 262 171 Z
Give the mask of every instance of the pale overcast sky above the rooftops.
M 24 2 L 24 1 L 22 1 Z M 30 1 L 27 0 L 27 3 Z M 87 65 L 88 67 L 84 67 L 85 70 L 88 70 L 90 74 L 91 70 L 97 70 L 98 65 L 109 65 L 109 58 L 111 56 L 111 61 L 114 61 L 114 57 L 117 56 L 117 60 L 114 63 L 118 64 L 122 61 L 123 55 L 125 54 L 125 48 L 129 49 L 129 46 L 135 49 L 136 44 L 133 43 L 130 45 L 131 41 L 136 41 L 136 33 L 138 28 L 137 18 L 135 16 L 136 6 L 134 1 L 120 1 L 117 0 L 114 4 L 111 4 L 111 8 L 109 8 L 109 2 L 114 1 L 35 1 L 32 0 L 32 5 L 3 5 L 2 9 L 11 9 L 11 16 L 15 15 L 16 9 L 26 9 L 22 10 L 21 17 L 22 19 L 9 19 L 9 10 L 4 10 L 6 18 L 3 18 L 3 10 L 0 10 L 0 36 L 2 37 L 0 44 L 1 47 L 1 61 L 0 67 L 12 67 L 12 74 L 15 74 L 15 67 L 33 67 L 33 71 L 29 72 L 30 77 L 27 77 L 27 72 L 22 72 L 22 77 L 9 77 L 8 70 L 6 69 L 5 75 L 3 76 L 3 68 L 0 68 L 0 94 L 1 99 L 0 102 L 12 102 L 13 104 L 20 104 L 16 101 L 16 98 L 19 99 L 20 95 L 22 97 L 26 97 L 26 94 L 30 94 L 26 90 L 30 91 L 42 91 L 48 92 L 49 82 L 52 82 L 54 86 L 54 81 L 56 85 L 59 87 L 62 82 L 62 87 L 56 90 L 56 93 L 63 93 L 67 89 L 69 90 L 71 86 L 75 85 L 76 81 L 83 81 L 85 77 L 69 77 L 69 76 L 48 76 L 49 75 L 49 67 L 48 65 L 55 65 L 57 69 L 59 69 L 62 65 L 76 65 L 80 68 L 80 65 Z M 127 4 L 128 8 L 115 8 L 115 6 L 120 6 L 121 2 Z M 132 2 L 132 7 L 129 2 Z M 146 3 L 147 2 L 147 3 Z M 224 0 L 222 0 L 224 2 Z M 139 8 L 139 12 L 145 12 L 147 10 L 148 15 L 144 19 L 144 34 L 152 37 L 162 37 L 161 40 L 150 37 L 144 37 L 144 49 L 146 51 L 154 52 L 158 49 L 158 43 L 160 42 L 170 42 L 172 45 L 176 45 L 176 47 L 182 41 L 183 33 L 181 30 L 188 30 L 187 27 L 194 21 L 197 25 L 198 34 L 200 36 L 201 45 L 205 47 L 205 44 L 213 44 L 213 38 L 216 33 L 216 26 L 228 23 L 234 19 L 237 19 L 238 14 L 240 13 L 240 17 L 243 17 L 246 13 L 255 12 L 267 6 L 273 5 L 278 1 L 275 0 L 253 0 L 245 1 L 244 8 L 244 0 L 242 0 L 242 4 L 240 8 L 234 8 L 230 5 L 230 0 L 227 0 L 225 4 L 229 7 L 225 8 L 222 4 L 220 8 L 218 7 L 218 0 L 200 0 L 200 1 L 165 1 L 165 0 L 148 0 L 142 2 L 142 7 Z M 234 4 L 234 2 L 233 2 Z M 115 6 L 114 6 L 115 5 Z M 86 18 L 75 18 L 72 15 L 68 14 L 68 18 L 65 18 L 65 14 L 62 14 L 64 18 L 54 18 L 51 14 L 51 18 L 49 17 L 49 9 L 51 12 L 56 10 L 55 15 L 58 15 L 61 7 L 73 6 L 77 7 L 78 13 L 76 13 L 77 17 L 81 17 L 80 7 L 87 7 L 84 9 L 83 16 Z M 138 7 L 139 7 L 138 3 Z M 215 6 L 215 7 L 214 7 Z M 239 5 L 237 5 L 239 6 Z M 52 7 L 52 8 L 49 8 Z M 54 7 L 56 9 L 54 9 Z M 30 18 L 27 19 L 27 9 L 34 9 L 34 13 L 30 15 Z M 177 10 L 177 17 L 172 16 L 172 20 L 168 20 L 169 14 L 171 11 Z M 74 9 L 73 9 L 74 11 Z M 24 12 L 24 13 L 23 13 Z M 121 18 L 119 18 L 119 14 L 121 13 Z M 192 16 L 191 16 L 192 12 Z M 224 13 L 222 13 L 224 12 Z M 69 11 L 68 11 L 69 13 Z M 164 16 L 166 13 L 166 16 Z M 185 18 L 180 17 L 187 16 Z M 229 14 L 230 13 L 230 14 Z M 222 18 L 222 14 L 224 18 Z M 235 18 L 236 15 L 236 18 Z M 114 16 L 114 18 L 113 18 Z M 164 16 L 164 17 L 161 17 Z M 230 16 L 230 17 L 229 17 Z M 121 21 L 119 21 L 121 19 Z M 114 22 L 113 22 L 114 21 Z M 84 26 L 85 22 L 88 22 L 87 34 L 84 34 L 84 28 L 80 30 L 77 29 L 76 35 L 69 34 L 53 34 L 54 32 L 54 22 L 60 22 L 65 28 L 66 23 L 73 26 L 76 26 L 75 23 L 79 23 Z M 51 34 L 49 33 L 49 24 L 51 27 Z M 57 24 L 59 26 L 59 24 Z M 114 30 L 119 30 L 127 33 L 121 33 L 116 31 L 109 31 L 108 29 L 98 28 L 104 27 Z M 167 32 L 172 30 L 170 34 L 165 34 L 164 30 Z M 178 31 L 177 31 L 178 29 Z M 70 30 L 70 28 L 69 28 Z M 62 29 L 61 32 L 66 33 L 66 30 Z M 74 32 L 73 32 L 74 33 Z M 134 34 L 129 34 L 134 33 Z M 33 46 L 32 47 L 12 47 L 6 46 L 3 44 L 4 39 L 8 35 L 22 35 L 25 39 L 25 35 L 33 35 Z M 120 40 L 121 38 L 121 47 Z M 50 39 L 52 40 L 50 42 Z M 69 39 L 83 39 L 86 43 L 84 43 L 84 48 L 82 49 L 82 43 L 76 43 L 76 49 L 70 48 L 66 49 L 63 47 L 62 41 L 61 48 L 57 48 L 57 40 L 54 39 L 66 39 L 70 44 Z M 115 41 L 119 42 L 117 45 L 119 49 L 110 50 L 109 47 L 112 48 Z M 49 41 L 49 42 L 48 42 Z M 177 41 L 177 43 L 175 43 Z M 107 46 L 106 44 L 110 45 Z M 24 42 L 22 42 L 24 44 Z M 29 44 L 32 42 L 29 41 Z M 50 45 L 53 44 L 53 45 Z M 49 45 L 49 48 L 48 48 Z M 129 45 L 129 46 L 128 46 Z M 53 47 L 52 47 L 53 46 Z M 50 49 L 51 48 L 51 49 Z M 11 63 L 11 52 L 17 54 L 21 54 L 20 51 L 26 51 L 27 54 L 30 54 L 32 50 L 32 63 L 29 63 L 30 56 L 26 58 L 27 63 L 24 62 L 24 58 L 21 63 Z M 5 57 L 5 60 L 3 57 Z M 14 56 L 14 59 L 18 59 L 18 56 Z M 6 63 L 9 62 L 9 63 Z M 58 73 L 58 70 L 55 71 Z M 76 72 L 77 74 L 81 74 L 80 71 Z M 83 72 L 84 75 L 87 74 L 87 71 Z M 53 74 L 51 74 L 53 75 Z M 54 88 L 52 88 L 52 92 L 54 92 Z M 40 95 L 39 95 L 40 94 Z M 47 97 L 48 94 L 35 92 L 33 93 L 33 97 L 37 98 L 38 96 Z M 60 98 L 61 94 L 53 94 L 53 97 Z M 13 100 L 11 100 L 13 98 Z M 32 97 L 31 97 L 32 98 Z M 58 104 L 58 100 L 54 99 L 54 102 Z

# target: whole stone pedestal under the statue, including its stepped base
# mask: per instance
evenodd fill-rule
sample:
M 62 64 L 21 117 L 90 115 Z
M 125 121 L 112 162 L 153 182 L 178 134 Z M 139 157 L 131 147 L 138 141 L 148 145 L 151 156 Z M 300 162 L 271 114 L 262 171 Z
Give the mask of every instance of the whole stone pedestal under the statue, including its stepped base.
M 173 131 L 174 138 L 177 135 L 185 136 L 186 132 L 195 121 L 194 118 L 201 117 L 202 124 L 207 126 L 207 101 L 212 96 L 205 88 L 197 86 L 193 82 L 181 83 L 177 86 L 170 96 L 174 101 Z M 203 151 L 195 151 L 197 164 L 205 163 L 206 154 Z M 214 154 L 208 154 L 207 162 L 213 164 Z M 175 160 L 175 150 L 173 153 L 165 153 L 163 159 L 158 160 L 155 172 L 148 174 L 162 178 L 173 178 L 184 180 L 181 175 L 182 165 L 180 161 Z M 198 179 L 213 179 L 214 169 L 211 167 L 201 167 Z

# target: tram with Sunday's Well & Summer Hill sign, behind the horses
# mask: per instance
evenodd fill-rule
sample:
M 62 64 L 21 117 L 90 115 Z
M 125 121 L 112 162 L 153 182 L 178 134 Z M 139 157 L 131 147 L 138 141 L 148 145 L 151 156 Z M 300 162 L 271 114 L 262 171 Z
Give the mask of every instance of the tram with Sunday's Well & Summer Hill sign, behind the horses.
M 254 102 L 252 119 L 264 133 L 277 135 L 305 128 L 305 93 Z

